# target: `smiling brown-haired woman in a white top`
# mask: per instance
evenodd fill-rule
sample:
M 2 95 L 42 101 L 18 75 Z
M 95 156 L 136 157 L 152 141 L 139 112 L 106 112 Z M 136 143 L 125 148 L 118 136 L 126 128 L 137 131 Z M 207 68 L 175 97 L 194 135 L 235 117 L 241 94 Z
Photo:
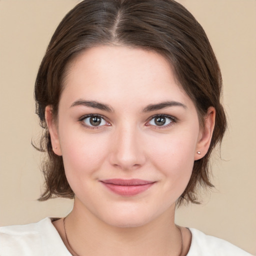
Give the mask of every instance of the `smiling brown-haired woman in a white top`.
M 36 83 L 46 188 L 65 218 L 0 229 L 0 255 L 248 255 L 174 223 L 210 187 L 224 134 L 221 74 L 172 0 L 85 0 L 53 34 Z M 100 246 L 98 246 L 100 244 Z

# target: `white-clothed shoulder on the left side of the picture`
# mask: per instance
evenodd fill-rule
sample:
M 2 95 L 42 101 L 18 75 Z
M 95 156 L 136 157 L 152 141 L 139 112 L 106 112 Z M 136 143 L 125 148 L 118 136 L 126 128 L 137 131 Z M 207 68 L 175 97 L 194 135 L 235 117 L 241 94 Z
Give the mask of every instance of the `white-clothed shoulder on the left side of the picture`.
M 70 256 L 50 218 L 36 223 L 0 227 L 1 256 Z

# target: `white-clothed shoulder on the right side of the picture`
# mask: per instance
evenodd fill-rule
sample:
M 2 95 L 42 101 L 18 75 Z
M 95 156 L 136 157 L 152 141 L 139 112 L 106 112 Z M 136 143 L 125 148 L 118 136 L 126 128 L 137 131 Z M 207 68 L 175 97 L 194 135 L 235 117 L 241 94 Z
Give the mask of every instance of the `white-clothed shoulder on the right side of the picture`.
M 251 254 L 232 243 L 215 236 L 189 228 L 192 234 L 190 249 L 187 256 L 250 256 Z

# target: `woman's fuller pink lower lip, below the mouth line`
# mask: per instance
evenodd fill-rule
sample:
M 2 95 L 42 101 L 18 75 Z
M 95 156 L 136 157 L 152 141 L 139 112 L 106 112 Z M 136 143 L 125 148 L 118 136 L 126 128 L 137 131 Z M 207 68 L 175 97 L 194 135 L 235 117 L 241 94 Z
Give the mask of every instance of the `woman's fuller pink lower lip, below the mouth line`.
M 108 189 L 110 189 L 112 192 L 124 196 L 131 196 L 142 193 L 143 191 L 147 190 L 150 186 L 154 184 L 154 182 L 142 185 L 115 185 L 112 183 L 101 183 L 105 185 Z

